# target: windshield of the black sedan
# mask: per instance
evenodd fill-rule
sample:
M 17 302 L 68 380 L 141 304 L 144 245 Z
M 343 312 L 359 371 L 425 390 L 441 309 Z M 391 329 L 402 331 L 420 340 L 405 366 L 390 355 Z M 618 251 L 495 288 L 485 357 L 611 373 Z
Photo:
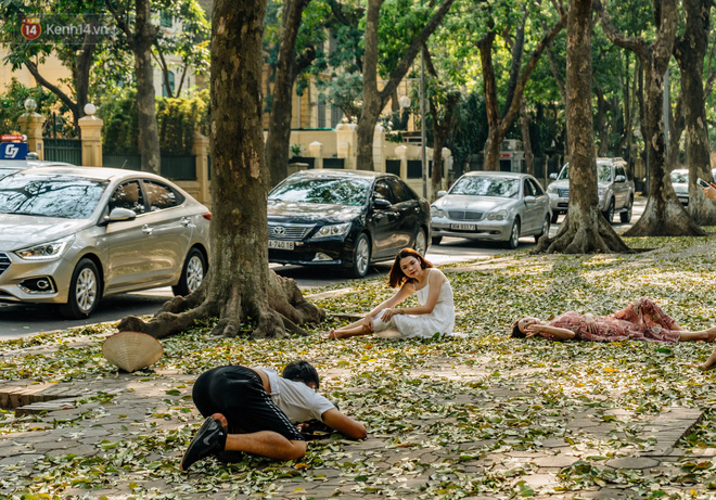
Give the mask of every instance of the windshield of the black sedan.
M 361 206 L 368 198 L 371 180 L 299 176 L 277 185 L 268 198 L 273 202 Z

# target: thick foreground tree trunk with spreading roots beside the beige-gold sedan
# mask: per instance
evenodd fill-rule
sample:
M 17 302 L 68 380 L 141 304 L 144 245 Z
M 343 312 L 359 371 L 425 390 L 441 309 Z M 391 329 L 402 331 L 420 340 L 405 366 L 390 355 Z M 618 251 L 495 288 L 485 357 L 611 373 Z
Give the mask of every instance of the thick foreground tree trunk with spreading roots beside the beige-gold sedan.
M 215 334 L 234 336 L 242 324 L 255 337 L 320 321 L 295 281 L 268 268 L 267 168 L 261 127 L 261 36 L 266 0 L 218 0 L 212 20 L 212 269 L 189 297 L 176 297 L 149 322 L 129 317 L 120 331 L 164 337 L 195 320 L 218 317 Z M 251 319 L 251 323 L 248 320 Z

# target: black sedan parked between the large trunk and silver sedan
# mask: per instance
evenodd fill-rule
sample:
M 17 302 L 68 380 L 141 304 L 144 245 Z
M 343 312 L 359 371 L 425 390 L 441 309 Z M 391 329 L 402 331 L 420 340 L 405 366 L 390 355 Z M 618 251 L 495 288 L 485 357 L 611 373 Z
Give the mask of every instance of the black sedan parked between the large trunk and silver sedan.
M 392 174 L 304 170 L 268 195 L 269 261 L 335 266 L 363 277 L 372 262 L 430 241 L 430 206 Z

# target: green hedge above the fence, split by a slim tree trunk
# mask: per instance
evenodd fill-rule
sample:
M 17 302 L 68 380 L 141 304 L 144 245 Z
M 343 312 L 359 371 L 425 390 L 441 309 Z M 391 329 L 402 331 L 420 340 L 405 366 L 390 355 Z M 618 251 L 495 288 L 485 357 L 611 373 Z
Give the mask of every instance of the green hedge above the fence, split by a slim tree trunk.
M 164 154 L 191 153 L 194 131 L 208 133 L 208 90 L 191 98 L 157 98 L 156 120 L 159 129 L 159 149 Z M 137 125 L 137 90 L 120 89 L 107 94 L 100 104 L 104 120 L 102 142 L 108 154 L 135 152 L 139 144 Z

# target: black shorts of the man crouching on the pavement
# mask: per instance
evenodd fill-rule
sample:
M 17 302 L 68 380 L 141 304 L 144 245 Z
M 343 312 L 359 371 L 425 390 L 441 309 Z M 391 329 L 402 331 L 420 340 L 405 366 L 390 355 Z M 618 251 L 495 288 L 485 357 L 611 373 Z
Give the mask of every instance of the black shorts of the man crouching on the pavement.
M 218 367 L 202 373 L 192 389 L 194 405 L 204 416 L 221 413 L 229 433 L 273 431 L 286 439 L 304 440 L 286 414 L 271 400 L 254 370 Z

